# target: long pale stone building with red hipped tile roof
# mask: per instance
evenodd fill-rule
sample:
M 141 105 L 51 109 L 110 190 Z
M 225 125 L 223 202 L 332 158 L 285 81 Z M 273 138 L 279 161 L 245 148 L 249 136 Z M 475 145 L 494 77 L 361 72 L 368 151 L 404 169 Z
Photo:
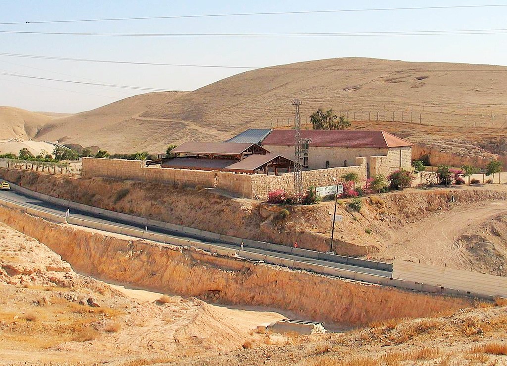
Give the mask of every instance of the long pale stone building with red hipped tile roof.
M 296 131 L 273 130 L 261 145 L 271 153 L 294 157 Z M 303 165 L 308 170 L 347 167 L 357 157 L 367 159 L 367 174 L 388 175 L 397 169 L 410 170 L 412 144 L 385 131 L 302 130 L 306 140 Z

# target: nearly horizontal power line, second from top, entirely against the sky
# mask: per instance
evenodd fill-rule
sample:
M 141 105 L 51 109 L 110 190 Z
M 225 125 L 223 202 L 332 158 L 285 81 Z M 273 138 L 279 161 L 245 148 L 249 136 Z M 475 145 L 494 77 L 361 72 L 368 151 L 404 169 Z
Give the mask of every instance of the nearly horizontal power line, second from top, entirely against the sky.
M 506 34 L 507 29 L 468 30 L 407 30 L 372 32 L 322 32 L 322 33 L 98 33 L 98 32 L 49 32 L 28 30 L 0 30 L 4 34 L 29 34 L 51 36 L 94 36 L 94 37 L 399 37 L 399 36 L 454 36 L 454 35 L 497 35 Z

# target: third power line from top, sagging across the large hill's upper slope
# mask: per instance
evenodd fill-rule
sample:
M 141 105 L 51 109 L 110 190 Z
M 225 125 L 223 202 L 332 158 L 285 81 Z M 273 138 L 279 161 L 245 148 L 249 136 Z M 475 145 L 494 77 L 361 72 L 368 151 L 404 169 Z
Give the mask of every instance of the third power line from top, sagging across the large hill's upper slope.
M 43 56 L 43 55 L 30 55 L 21 53 L 7 53 L 0 52 L 0 56 L 21 57 L 21 58 L 35 58 L 35 59 L 49 59 L 49 60 L 63 60 L 63 61 L 79 61 L 79 62 L 97 62 L 97 63 L 113 63 L 113 64 L 132 64 L 132 65 L 154 65 L 154 66 L 182 66 L 189 68 L 218 68 L 218 69 L 276 69 L 276 70 L 296 70 L 296 71 L 371 71 L 371 72 L 456 72 L 456 73 L 505 73 L 507 68 L 502 67 L 504 70 L 498 69 L 356 69 L 356 68 L 303 68 L 293 66 L 235 66 L 235 65 L 206 65 L 206 64 L 188 64 L 188 63 L 162 63 L 162 62 L 137 62 L 137 61 L 118 61 L 118 60 L 100 60 L 89 58 L 72 58 L 72 57 L 57 57 L 57 56 Z

